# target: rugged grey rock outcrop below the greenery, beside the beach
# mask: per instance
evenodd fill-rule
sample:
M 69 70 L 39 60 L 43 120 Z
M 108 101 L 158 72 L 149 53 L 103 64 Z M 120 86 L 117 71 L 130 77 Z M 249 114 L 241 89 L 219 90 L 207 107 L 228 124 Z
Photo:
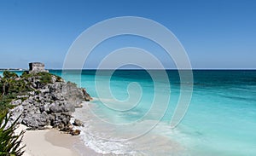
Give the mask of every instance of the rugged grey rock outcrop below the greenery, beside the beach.
M 37 81 L 33 78 L 31 80 Z M 82 101 L 91 100 L 90 95 L 70 82 L 54 82 L 39 86 L 35 87 L 35 91 L 17 96 L 17 99 L 12 101 L 18 106 L 12 110 L 13 118 L 21 114 L 20 123 L 32 130 L 42 130 L 45 126 L 52 126 L 73 131 L 70 130 L 71 113 L 75 111 L 75 107 L 80 107 Z M 75 135 L 77 134 L 79 132 L 76 131 Z

